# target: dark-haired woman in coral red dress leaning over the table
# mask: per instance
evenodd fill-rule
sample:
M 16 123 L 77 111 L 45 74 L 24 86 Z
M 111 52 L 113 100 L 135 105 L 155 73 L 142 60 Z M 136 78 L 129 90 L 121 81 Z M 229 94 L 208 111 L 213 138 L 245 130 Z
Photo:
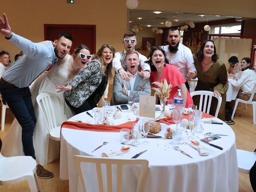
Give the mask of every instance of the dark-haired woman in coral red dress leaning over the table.
M 146 62 L 150 64 L 151 68 L 151 84 L 154 81 L 162 82 L 162 80 L 166 79 L 168 83 L 172 84 L 172 91 L 170 92 L 169 98 L 173 99 L 174 94 L 176 94 L 178 89 L 180 89 L 184 99 L 183 106 L 188 108 L 189 104 L 193 104 L 193 100 L 185 85 L 185 78 L 182 76 L 178 68 L 171 64 L 168 64 L 168 60 L 162 48 L 154 47 L 150 52 L 150 59 Z

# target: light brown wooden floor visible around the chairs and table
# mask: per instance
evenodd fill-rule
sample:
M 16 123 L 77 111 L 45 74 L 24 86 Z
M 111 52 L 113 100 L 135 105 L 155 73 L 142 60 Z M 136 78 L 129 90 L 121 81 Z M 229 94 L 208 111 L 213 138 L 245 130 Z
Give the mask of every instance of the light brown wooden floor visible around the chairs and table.
M 13 116 L 9 109 L 6 111 L 5 130 L 0 131 L 3 139 L 8 132 Z M 244 104 L 240 104 L 234 117 L 235 124 L 231 128 L 236 134 L 236 148 L 254 151 L 256 148 L 256 125 L 252 122 L 252 106 L 245 109 Z M 59 160 L 45 165 L 44 168 L 54 173 L 50 179 L 39 179 L 42 192 L 68 192 L 68 180 L 59 179 Z M 239 192 L 253 192 L 249 175 L 239 173 Z M 0 186 L 0 192 L 29 192 L 28 183 L 21 182 L 12 186 Z

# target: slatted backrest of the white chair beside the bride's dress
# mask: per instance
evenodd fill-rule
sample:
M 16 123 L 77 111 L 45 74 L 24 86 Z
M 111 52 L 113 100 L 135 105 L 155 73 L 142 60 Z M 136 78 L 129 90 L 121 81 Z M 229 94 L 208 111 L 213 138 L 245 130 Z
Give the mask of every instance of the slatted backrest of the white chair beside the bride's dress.
M 57 123 L 56 123 L 56 116 L 55 116 L 54 108 L 52 107 L 54 105 L 52 104 L 51 97 L 58 98 L 58 96 L 56 94 L 46 93 L 46 92 L 43 92 L 36 97 L 36 101 L 38 103 L 39 108 L 41 109 L 41 111 L 43 113 L 44 120 L 46 122 L 46 126 L 48 128 L 49 133 L 51 132 L 52 129 L 58 127 Z M 60 101 L 59 98 L 58 98 L 58 100 Z M 60 103 L 61 103 L 61 101 L 60 101 Z

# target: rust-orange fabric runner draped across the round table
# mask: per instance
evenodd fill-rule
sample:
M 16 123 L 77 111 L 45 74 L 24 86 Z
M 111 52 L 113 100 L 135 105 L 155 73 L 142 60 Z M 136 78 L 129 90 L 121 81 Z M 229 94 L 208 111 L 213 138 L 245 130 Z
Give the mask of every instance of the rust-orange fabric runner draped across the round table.
M 209 115 L 207 113 L 203 113 L 203 118 L 213 118 L 214 116 Z M 188 115 L 184 115 L 183 119 L 188 119 Z M 170 119 L 168 119 L 170 120 Z M 167 121 L 168 121 L 167 120 Z M 73 121 L 65 121 L 62 123 L 61 128 L 70 128 L 70 129 L 77 129 L 77 130 L 87 130 L 87 131 L 100 131 L 100 132 L 119 132 L 122 128 L 132 129 L 132 124 L 138 122 L 136 121 L 128 121 L 126 123 L 120 125 L 94 125 L 89 123 L 81 123 L 81 122 L 73 122 Z M 164 119 L 161 119 L 162 123 Z M 172 122 L 167 123 L 167 125 L 173 124 Z

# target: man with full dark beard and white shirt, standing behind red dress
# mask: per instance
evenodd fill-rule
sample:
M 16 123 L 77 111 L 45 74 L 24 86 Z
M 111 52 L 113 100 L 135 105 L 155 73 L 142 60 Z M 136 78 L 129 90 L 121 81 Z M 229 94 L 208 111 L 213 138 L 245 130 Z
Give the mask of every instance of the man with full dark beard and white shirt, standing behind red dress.
M 197 72 L 191 50 L 180 44 L 180 30 L 170 28 L 167 40 L 169 45 L 163 46 L 169 64 L 176 66 L 186 79 L 186 87 L 189 90 L 188 80 L 196 78 Z

